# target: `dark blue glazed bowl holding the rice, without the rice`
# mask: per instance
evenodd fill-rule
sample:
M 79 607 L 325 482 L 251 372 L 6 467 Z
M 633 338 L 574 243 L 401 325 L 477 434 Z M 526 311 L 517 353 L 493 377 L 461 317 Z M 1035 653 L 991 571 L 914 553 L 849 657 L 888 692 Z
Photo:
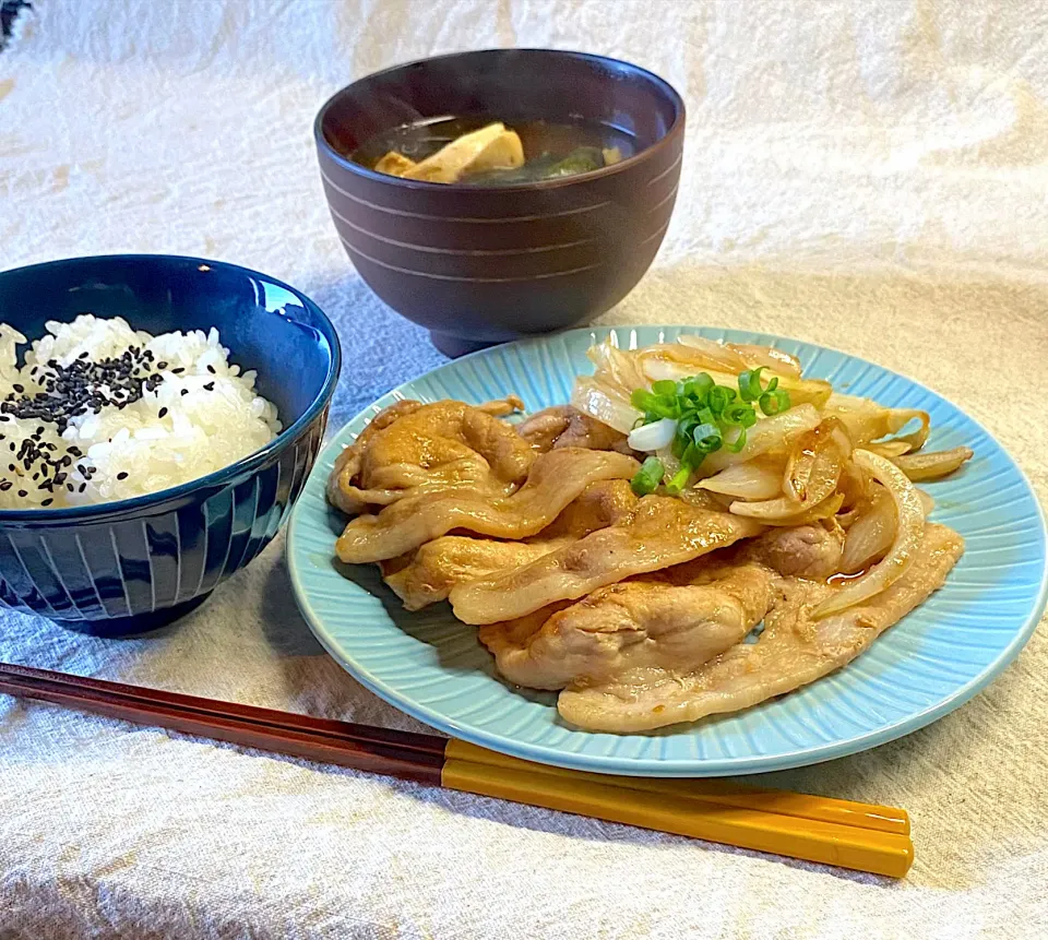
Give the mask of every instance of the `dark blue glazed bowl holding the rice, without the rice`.
M 317 459 L 342 362 L 315 304 L 234 264 L 112 254 L 0 272 L 0 309 L 31 338 L 81 311 L 154 335 L 217 328 L 284 426 L 233 465 L 160 492 L 0 511 L 0 604 L 96 635 L 141 633 L 200 604 L 270 543 Z

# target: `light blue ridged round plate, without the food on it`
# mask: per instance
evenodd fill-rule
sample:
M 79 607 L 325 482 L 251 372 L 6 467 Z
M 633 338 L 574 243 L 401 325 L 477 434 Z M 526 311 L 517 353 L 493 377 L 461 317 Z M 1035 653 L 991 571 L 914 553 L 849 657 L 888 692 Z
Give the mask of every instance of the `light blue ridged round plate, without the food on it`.
M 1045 521 L 1029 483 L 978 424 L 902 376 L 831 349 L 738 331 L 688 330 L 714 340 L 778 346 L 806 374 L 850 394 L 931 414 L 934 450 L 967 444 L 976 456 L 928 486 L 933 519 L 967 550 L 946 585 L 844 669 L 747 712 L 648 735 L 605 735 L 565 725 L 555 695 L 511 688 L 496 675 L 476 630 L 446 605 L 417 614 L 373 567 L 336 568 L 344 521 L 324 502 L 335 455 L 397 398 L 479 403 L 515 392 L 528 410 L 568 401 L 592 367 L 586 349 L 672 341 L 682 328 L 574 330 L 450 362 L 401 385 L 358 415 L 321 453 L 295 507 L 288 563 L 298 603 L 317 638 L 353 676 L 398 709 L 484 747 L 558 766 L 647 776 L 776 771 L 872 748 L 920 728 L 985 688 L 1029 639 L 1045 608 Z

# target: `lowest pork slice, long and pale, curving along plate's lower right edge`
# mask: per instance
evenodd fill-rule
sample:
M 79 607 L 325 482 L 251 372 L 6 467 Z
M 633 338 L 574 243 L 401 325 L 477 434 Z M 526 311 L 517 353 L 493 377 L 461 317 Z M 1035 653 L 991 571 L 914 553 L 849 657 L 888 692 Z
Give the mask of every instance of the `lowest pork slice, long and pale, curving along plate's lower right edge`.
M 882 593 L 820 620 L 813 607 L 832 588 L 783 579 L 757 643 L 733 646 L 693 674 L 627 673 L 560 693 L 560 714 L 594 731 L 630 734 L 738 712 L 793 691 L 851 662 L 944 583 L 964 551 L 953 530 L 929 524 L 913 564 Z

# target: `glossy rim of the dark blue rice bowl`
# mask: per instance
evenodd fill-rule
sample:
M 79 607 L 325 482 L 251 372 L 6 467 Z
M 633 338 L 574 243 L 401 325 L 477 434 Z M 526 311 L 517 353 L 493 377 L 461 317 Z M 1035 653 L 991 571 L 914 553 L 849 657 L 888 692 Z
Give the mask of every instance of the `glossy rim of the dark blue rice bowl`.
M 193 490 L 202 489 L 204 487 L 211 486 L 221 486 L 234 477 L 240 476 L 246 473 L 253 473 L 262 464 L 264 464 L 270 457 L 275 453 L 283 451 L 287 445 L 301 432 L 315 420 L 317 416 L 327 406 L 332 396 L 335 392 L 335 385 L 338 382 L 338 376 L 342 371 L 342 344 L 338 341 L 338 333 L 335 330 L 334 323 L 331 322 L 331 318 L 309 297 L 302 294 L 301 290 L 293 287 L 290 284 L 287 284 L 281 281 L 277 277 L 272 277 L 269 274 L 263 274 L 261 271 L 255 271 L 251 267 L 245 267 L 240 264 L 231 264 L 227 261 L 214 261 L 210 258 L 195 258 L 189 254 L 148 254 L 148 253 L 116 253 L 116 254 L 85 254 L 85 255 L 74 255 L 71 258 L 60 258 L 55 261 L 43 261 L 36 264 L 25 264 L 20 267 L 8 267 L 0 271 L 0 278 L 4 277 L 8 274 L 21 273 L 25 271 L 44 271 L 48 267 L 58 267 L 63 264 L 69 264 L 70 262 L 111 262 L 111 261 L 130 261 L 139 263 L 154 263 L 157 261 L 176 261 L 176 262 L 188 262 L 190 264 L 206 264 L 212 269 L 221 269 L 224 271 L 230 271 L 238 274 L 247 274 L 252 277 L 259 277 L 263 281 L 267 281 L 276 287 L 281 287 L 284 290 L 287 290 L 289 294 L 293 294 L 297 297 L 302 306 L 310 310 L 317 318 L 319 322 L 320 330 L 319 332 L 327 341 L 329 347 L 331 348 L 331 359 L 327 364 L 327 374 L 324 376 L 324 381 L 321 384 L 320 391 L 313 397 L 313 401 L 310 402 L 309 407 L 301 414 L 301 416 L 294 421 L 289 427 L 284 428 L 272 441 L 270 441 L 264 447 L 260 448 L 257 451 L 242 456 L 240 460 L 228 464 L 227 466 L 221 467 L 219 469 L 213 471 L 212 473 L 196 477 L 194 479 L 188 480 L 186 483 L 178 484 L 177 486 L 168 487 L 167 489 L 157 490 L 156 492 L 145 493 L 143 496 L 135 496 L 129 499 L 116 500 L 114 502 L 96 502 L 88 503 L 85 505 L 63 505 L 56 507 L 55 509 L 0 509 L 0 525 L 3 523 L 23 523 L 23 524 L 33 524 L 33 523 L 55 523 L 55 522 L 67 522 L 67 521 L 81 521 L 90 517 L 104 517 L 108 515 L 123 515 L 129 512 L 134 512 L 141 509 L 148 509 L 155 505 L 159 505 L 168 500 L 179 499 L 192 492 Z

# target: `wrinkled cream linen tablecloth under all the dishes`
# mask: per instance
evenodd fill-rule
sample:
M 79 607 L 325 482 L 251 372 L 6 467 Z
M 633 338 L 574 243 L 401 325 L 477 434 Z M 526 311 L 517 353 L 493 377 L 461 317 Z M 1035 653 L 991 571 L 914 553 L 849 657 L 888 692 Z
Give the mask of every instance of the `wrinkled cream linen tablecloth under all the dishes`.
M 380 67 L 510 45 L 621 56 L 688 100 L 666 246 L 606 322 L 868 357 L 1048 493 L 1044 3 L 34 0 L 0 53 L 0 265 L 182 252 L 286 278 L 338 320 L 345 419 L 440 357 L 343 255 L 313 114 Z M 147 639 L 4 616 L 0 657 L 417 727 L 311 640 L 282 551 Z M 908 808 L 900 883 L 0 697 L 0 937 L 1046 937 L 1046 669 L 1041 630 L 932 727 L 772 778 Z

